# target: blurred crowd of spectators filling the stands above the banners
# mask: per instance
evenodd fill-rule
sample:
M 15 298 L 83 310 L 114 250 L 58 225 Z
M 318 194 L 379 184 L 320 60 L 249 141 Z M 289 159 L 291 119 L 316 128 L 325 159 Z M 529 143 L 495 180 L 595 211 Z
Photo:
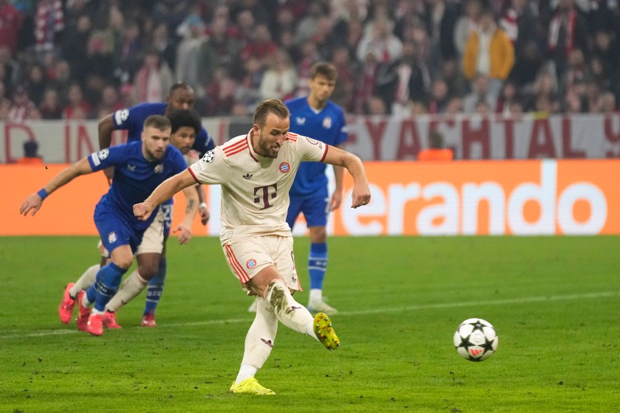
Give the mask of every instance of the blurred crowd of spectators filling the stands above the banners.
M 94 119 L 192 85 L 200 116 L 307 93 L 349 114 L 610 113 L 618 0 L 0 0 L 0 120 Z

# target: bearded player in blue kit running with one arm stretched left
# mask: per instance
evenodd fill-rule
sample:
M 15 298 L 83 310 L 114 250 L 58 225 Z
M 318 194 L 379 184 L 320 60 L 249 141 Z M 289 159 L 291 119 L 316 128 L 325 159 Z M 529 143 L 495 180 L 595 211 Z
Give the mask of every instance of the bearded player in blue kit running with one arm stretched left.
M 158 210 L 149 220 L 137 220 L 133 215 L 133 205 L 145 200 L 161 182 L 187 169 L 183 154 L 168 145 L 171 130 L 170 121 L 165 116 L 149 116 L 143 125 L 142 142 L 102 149 L 79 160 L 52 178 L 39 192 L 26 198 L 19 209 L 23 215 L 30 211 L 34 215 L 50 193 L 74 178 L 114 167 L 114 180 L 94 212 L 97 231 L 103 245 L 110 251 L 110 262 L 99 269 L 95 284 L 80 291 L 76 297 L 80 330 L 103 335 L 105 304 L 121 284 L 134 254 L 138 272 L 145 277 L 151 277 L 158 269 L 163 249 L 163 213 Z M 188 202 L 192 200 L 196 205 L 196 190 L 190 188 L 184 193 Z M 193 218 L 196 207 L 186 213 Z M 92 304 L 94 308 L 91 310 Z

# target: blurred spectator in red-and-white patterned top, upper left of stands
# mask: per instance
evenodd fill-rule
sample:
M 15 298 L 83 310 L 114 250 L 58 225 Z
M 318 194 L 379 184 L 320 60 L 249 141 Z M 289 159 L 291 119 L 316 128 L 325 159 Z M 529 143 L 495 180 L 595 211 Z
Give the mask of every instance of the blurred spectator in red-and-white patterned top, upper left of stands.
M 39 53 L 54 50 L 64 28 L 63 3 L 60 0 L 40 0 L 34 16 L 34 50 Z

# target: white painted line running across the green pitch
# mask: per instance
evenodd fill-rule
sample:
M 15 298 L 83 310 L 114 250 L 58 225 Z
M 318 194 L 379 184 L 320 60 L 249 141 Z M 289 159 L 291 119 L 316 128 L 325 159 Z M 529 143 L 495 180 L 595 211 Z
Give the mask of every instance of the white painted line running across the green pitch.
M 380 314 L 380 313 L 398 313 L 402 311 L 419 311 L 419 310 L 432 310 L 440 308 L 457 308 L 457 307 L 479 307 L 479 306 L 501 306 L 505 304 L 526 304 L 542 301 L 568 301 L 574 299 L 593 299 L 593 298 L 608 298 L 616 297 L 619 295 L 619 291 L 601 291 L 600 293 L 585 293 L 585 294 L 570 294 L 570 295 L 546 295 L 542 297 L 521 297 L 521 298 L 506 298 L 495 299 L 490 301 L 468 301 L 468 302 L 455 302 L 455 303 L 437 303 L 437 304 L 422 304 L 420 306 L 402 306 L 393 308 L 374 308 L 372 310 L 359 310 L 359 311 L 341 311 L 338 312 L 338 317 L 347 315 L 367 315 L 367 314 Z M 192 321 L 189 323 L 171 323 L 171 324 L 158 324 L 158 328 L 167 327 L 187 327 L 187 326 L 212 326 L 215 324 L 234 324 L 234 323 L 249 323 L 251 317 L 243 319 L 219 319 L 219 320 L 205 320 L 205 321 Z M 138 327 L 136 327 L 138 328 Z M 52 335 L 64 335 L 74 334 L 79 332 L 78 330 L 39 330 L 37 332 L 25 332 L 25 330 L 8 330 L 4 331 L 3 335 L 0 335 L 0 339 L 18 339 L 24 337 L 43 337 Z

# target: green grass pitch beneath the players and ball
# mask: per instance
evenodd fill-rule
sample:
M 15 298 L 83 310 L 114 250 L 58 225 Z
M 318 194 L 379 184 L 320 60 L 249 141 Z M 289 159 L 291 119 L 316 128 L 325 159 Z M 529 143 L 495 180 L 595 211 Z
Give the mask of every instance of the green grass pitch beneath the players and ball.
M 307 287 L 307 238 L 296 261 Z M 234 395 L 246 297 L 215 238 L 168 243 L 158 326 L 144 295 L 103 337 L 60 323 L 93 237 L 0 238 L 0 412 L 614 412 L 620 410 L 620 237 L 333 237 L 325 295 L 342 346 L 280 325 Z M 296 296 L 307 303 L 307 293 Z M 499 335 L 482 363 L 452 336 L 470 317 Z

